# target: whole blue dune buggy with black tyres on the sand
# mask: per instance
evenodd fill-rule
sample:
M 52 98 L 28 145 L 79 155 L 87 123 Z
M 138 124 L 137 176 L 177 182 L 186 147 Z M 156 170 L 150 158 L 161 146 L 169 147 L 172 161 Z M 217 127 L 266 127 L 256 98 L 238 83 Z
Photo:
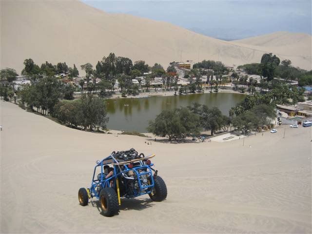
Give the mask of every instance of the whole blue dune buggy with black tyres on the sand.
M 167 197 L 167 187 L 151 158 L 135 149 L 113 152 L 110 156 L 97 161 L 91 186 L 80 188 L 79 203 L 86 206 L 89 199 L 98 198 L 104 216 L 115 215 L 120 206 L 120 197 L 132 198 L 148 194 L 153 201 L 162 201 Z M 153 174 L 154 172 L 154 174 Z

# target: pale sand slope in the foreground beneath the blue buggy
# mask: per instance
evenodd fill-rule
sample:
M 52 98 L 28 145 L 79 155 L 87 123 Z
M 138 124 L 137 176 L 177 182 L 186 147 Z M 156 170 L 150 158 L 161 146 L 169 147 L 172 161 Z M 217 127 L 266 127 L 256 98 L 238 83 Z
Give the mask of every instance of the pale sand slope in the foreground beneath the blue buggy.
M 311 233 L 311 128 L 227 143 L 144 144 L 61 126 L 0 102 L 1 233 Z M 250 148 L 249 145 L 252 147 Z M 78 204 L 95 161 L 156 153 L 165 201 L 122 199 L 107 218 Z

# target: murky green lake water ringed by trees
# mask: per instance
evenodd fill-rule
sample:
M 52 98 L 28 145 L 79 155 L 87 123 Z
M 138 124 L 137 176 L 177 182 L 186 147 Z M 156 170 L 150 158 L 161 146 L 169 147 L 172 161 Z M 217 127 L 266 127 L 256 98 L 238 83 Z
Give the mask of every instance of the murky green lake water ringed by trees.
M 107 127 L 114 130 L 146 133 L 148 121 L 155 119 L 162 110 L 191 106 L 197 102 L 209 107 L 216 106 L 224 115 L 229 115 L 231 107 L 243 98 L 244 95 L 241 94 L 208 93 L 170 97 L 108 99 L 109 122 Z

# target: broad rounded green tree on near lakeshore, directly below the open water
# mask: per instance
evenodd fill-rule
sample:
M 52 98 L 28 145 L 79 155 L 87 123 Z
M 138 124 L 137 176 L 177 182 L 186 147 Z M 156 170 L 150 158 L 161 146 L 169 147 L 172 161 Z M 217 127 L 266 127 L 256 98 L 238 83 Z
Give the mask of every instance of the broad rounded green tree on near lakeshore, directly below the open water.
M 163 110 L 154 121 L 149 122 L 148 131 L 169 141 L 184 139 L 199 134 L 199 117 L 187 108 Z

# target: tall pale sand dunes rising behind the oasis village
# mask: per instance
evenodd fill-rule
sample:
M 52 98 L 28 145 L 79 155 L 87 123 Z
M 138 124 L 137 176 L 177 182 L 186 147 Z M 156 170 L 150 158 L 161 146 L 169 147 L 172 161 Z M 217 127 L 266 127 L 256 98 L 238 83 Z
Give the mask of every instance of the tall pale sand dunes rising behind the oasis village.
M 259 62 L 267 52 L 311 69 L 311 36 L 279 33 L 274 43 L 242 43 L 206 37 L 175 25 L 125 14 L 108 14 L 79 1 L 1 1 L 1 68 L 20 72 L 23 61 L 48 60 L 79 67 L 115 52 L 150 65 L 176 60 L 221 60 L 226 65 Z M 267 38 L 268 36 L 263 36 Z M 310 37 L 310 39 L 309 39 Z M 285 40 L 286 39 L 286 40 Z M 254 39 L 257 40 L 257 39 Z M 259 39 L 263 39 L 260 37 Z M 284 43 L 287 41 L 287 43 Z

